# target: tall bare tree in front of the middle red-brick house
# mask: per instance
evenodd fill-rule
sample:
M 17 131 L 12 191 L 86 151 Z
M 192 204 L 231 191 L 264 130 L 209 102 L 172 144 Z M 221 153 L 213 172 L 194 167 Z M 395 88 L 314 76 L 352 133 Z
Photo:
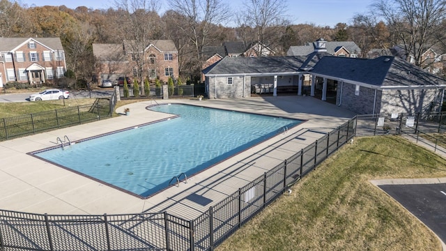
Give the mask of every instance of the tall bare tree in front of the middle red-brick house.
M 118 8 L 118 20 L 116 27 L 119 31 L 116 36 L 123 40 L 125 52 L 130 53 L 131 61 L 134 63 L 137 73 L 134 77 L 139 77 L 142 83 L 144 79 L 145 49 L 153 40 L 153 36 L 159 25 L 157 11 L 160 9 L 160 2 L 156 0 L 116 0 Z M 141 84 L 141 95 L 145 95 L 143 84 Z

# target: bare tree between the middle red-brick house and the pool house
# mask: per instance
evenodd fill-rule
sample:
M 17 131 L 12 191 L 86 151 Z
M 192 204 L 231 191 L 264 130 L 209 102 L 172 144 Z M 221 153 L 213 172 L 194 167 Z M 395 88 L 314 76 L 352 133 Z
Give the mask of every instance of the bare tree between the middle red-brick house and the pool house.
M 171 0 L 169 6 L 183 17 L 174 22 L 194 48 L 194 60 L 190 63 L 195 74 L 199 74 L 203 46 L 218 36 L 221 29 L 214 29 L 215 26 L 229 20 L 229 6 L 223 0 Z

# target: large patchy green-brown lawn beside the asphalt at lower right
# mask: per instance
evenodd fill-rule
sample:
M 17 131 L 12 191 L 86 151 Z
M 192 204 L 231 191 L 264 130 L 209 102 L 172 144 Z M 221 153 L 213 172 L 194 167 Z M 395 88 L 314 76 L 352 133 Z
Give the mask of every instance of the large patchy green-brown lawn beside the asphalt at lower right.
M 357 137 L 217 250 L 441 250 L 378 178 L 446 176 L 446 160 L 401 137 Z

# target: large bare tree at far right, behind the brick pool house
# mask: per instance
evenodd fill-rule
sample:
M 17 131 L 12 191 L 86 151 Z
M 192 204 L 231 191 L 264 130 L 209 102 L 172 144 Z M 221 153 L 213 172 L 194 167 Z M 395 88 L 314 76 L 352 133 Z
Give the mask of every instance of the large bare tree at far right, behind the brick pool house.
M 424 52 L 445 38 L 440 24 L 445 20 L 446 1 L 378 0 L 373 6 L 387 22 L 392 43 L 403 47 L 406 60 L 426 68 Z

